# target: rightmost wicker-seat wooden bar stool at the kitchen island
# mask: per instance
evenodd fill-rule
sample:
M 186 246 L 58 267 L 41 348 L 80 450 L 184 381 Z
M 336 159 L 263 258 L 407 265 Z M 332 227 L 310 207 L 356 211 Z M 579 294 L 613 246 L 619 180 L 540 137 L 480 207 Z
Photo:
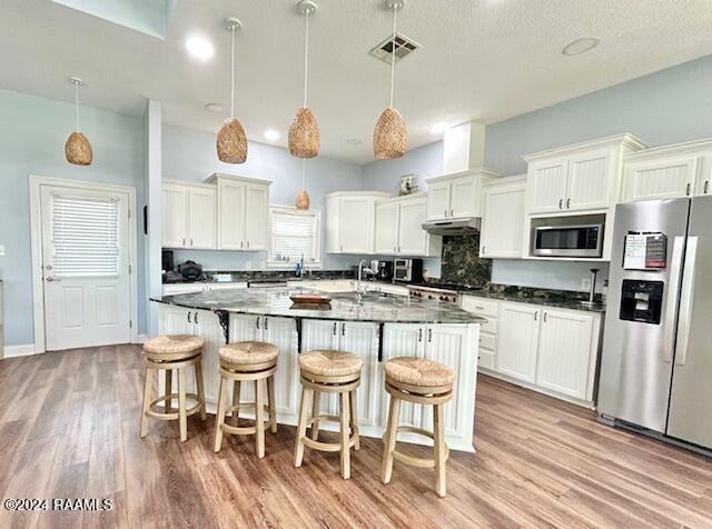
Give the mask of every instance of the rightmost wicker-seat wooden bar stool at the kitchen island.
M 398 357 L 388 360 L 385 366 L 386 391 L 390 393 L 388 407 L 388 427 L 384 433 L 383 467 L 380 478 L 390 482 L 393 460 L 415 467 L 435 469 L 435 491 L 445 496 L 445 461 L 449 449 L 445 443 L 443 408 L 453 398 L 455 372 L 447 366 L 434 360 L 415 357 Z M 433 406 L 433 431 L 423 428 L 398 427 L 400 401 Z M 434 441 L 434 457 L 416 458 L 396 450 L 396 436 L 399 431 L 409 431 L 429 437 Z

